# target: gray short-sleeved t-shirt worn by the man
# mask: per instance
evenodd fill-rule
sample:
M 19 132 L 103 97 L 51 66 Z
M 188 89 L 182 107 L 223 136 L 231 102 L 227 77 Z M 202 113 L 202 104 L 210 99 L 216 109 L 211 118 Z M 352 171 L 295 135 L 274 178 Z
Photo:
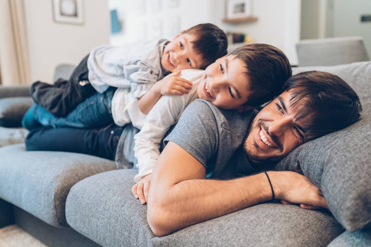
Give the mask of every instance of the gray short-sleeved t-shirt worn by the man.
M 164 141 L 165 144 L 173 141 L 200 161 L 207 178 L 246 176 L 257 171 L 242 147 L 255 115 L 255 111 L 221 110 L 208 101 L 196 99 Z

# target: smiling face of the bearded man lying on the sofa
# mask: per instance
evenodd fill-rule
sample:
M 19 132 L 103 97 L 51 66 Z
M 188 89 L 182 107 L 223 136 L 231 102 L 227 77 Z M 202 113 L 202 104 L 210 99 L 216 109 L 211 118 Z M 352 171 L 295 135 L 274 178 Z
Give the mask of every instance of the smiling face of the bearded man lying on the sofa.
M 244 141 L 244 150 L 252 161 L 278 161 L 306 141 L 305 133 L 295 116 L 297 105 L 290 107 L 291 94 L 285 91 L 267 104 L 255 117 Z

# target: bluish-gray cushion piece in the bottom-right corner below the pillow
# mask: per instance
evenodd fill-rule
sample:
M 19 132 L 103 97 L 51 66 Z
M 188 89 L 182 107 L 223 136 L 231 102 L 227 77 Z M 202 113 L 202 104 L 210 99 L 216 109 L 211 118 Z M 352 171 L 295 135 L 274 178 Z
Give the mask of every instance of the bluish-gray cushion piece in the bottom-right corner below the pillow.
M 339 237 L 335 238 L 328 247 L 370 247 L 371 246 L 371 228 L 365 228 L 351 233 L 345 231 Z

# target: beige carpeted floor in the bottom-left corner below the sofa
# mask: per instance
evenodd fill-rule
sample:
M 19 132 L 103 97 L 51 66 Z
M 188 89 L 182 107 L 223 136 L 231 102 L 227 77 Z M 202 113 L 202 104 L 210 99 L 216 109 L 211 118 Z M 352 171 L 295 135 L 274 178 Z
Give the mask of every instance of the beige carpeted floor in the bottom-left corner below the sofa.
M 23 231 L 17 225 L 0 228 L 1 247 L 46 247 L 45 244 Z

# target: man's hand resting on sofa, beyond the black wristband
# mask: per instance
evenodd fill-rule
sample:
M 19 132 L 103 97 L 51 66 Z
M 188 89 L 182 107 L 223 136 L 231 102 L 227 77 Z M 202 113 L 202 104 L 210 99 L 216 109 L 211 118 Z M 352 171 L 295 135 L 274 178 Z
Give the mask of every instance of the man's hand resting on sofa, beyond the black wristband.
M 294 171 L 267 172 L 276 199 L 283 204 L 300 204 L 306 209 L 328 208 L 322 191 L 305 176 Z

